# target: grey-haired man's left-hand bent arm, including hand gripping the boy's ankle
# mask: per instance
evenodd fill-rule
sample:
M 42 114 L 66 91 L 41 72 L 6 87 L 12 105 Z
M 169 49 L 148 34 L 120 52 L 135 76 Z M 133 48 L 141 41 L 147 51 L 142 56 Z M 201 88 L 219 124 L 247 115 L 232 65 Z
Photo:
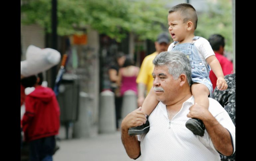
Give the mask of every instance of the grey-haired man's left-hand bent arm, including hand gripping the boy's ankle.
M 130 127 L 140 126 L 146 122 L 145 114 L 141 111 L 141 107 L 128 114 L 121 124 L 121 139 L 128 156 L 132 159 L 138 158 L 140 155 L 140 142 L 136 135 L 130 136 L 128 129 Z

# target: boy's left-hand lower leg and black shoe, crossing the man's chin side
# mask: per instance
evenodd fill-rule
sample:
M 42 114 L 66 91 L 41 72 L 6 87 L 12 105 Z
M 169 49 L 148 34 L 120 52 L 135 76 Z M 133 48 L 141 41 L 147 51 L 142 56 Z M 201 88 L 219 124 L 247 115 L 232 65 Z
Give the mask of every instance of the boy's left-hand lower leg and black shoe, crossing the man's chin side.
M 158 103 L 159 101 L 156 99 L 156 94 L 153 88 L 151 88 L 149 94 L 145 98 L 141 107 L 142 108 L 141 111 L 143 111 L 147 115 L 147 119 L 148 119 L 148 116 L 151 114 L 151 112 L 156 108 Z M 149 131 L 149 121 L 147 120 L 146 123 L 141 126 L 129 128 L 128 134 L 138 135 L 138 134 L 146 133 L 148 131 Z

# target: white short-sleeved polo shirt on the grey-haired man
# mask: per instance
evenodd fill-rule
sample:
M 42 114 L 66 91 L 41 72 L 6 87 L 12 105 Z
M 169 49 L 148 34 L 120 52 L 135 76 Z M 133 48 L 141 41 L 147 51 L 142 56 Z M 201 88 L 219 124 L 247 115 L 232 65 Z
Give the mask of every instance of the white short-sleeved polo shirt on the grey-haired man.
M 186 128 L 189 108 L 194 104 L 193 96 L 183 103 L 181 110 L 168 119 L 166 106 L 159 102 L 150 114 L 150 130 L 138 135 L 141 141 L 143 161 L 219 161 L 220 156 L 205 130 L 204 136 L 194 135 Z M 235 126 L 225 109 L 214 99 L 209 98 L 209 112 L 219 123 L 228 129 L 235 151 Z

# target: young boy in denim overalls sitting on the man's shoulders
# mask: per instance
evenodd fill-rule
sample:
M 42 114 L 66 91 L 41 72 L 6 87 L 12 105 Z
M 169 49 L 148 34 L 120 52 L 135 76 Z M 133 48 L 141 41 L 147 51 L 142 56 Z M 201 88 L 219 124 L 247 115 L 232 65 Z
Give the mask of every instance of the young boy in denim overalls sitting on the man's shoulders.
M 192 95 L 194 104 L 209 107 L 208 96 L 212 93 L 212 84 L 209 79 L 209 71 L 212 69 L 217 77 L 217 88 L 227 89 L 227 83 L 219 61 L 209 44 L 201 37 L 194 36 L 197 25 L 197 15 L 194 7 L 187 3 L 178 4 L 169 11 L 168 15 L 169 33 L 174 42 L 169 46 L 168 51 L 179 50 L 187 55 L 192 67 Z M 209 67 L 210 66 L 210 67 Z M 142 111 L 149 116 L 158 104 L 156 94 L 152 88 L 142 104 Z M 191 107 L 193 108 L 193 106 Z M 203 136 L 205 127 L 199 119 L 189 119 L 186 127 L 195 135 Z M 149 123 L 128 130 L 130 135 L 146 133 L 149 131 Z

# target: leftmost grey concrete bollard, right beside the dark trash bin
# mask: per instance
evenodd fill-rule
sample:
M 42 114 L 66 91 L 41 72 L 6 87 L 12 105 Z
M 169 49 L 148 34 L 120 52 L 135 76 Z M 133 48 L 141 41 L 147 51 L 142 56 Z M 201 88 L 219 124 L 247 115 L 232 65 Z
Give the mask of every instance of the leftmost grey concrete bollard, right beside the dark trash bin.
M 89 96 L 85 92 L 79 93 L 78 120 L 74 123 L 74 138 L 87 138 L 90 136 L 90 107 Z

